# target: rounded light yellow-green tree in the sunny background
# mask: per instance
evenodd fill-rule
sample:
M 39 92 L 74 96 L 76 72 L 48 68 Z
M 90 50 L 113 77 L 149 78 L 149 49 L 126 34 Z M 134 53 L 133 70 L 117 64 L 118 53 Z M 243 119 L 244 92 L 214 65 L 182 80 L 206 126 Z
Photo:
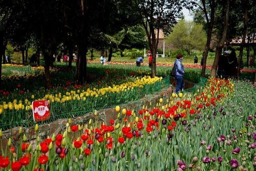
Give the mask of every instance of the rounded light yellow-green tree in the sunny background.
M 175 48 L 185 50 L 190 55 L 191 51 L 203 50 L 206 43 L 206 32 L 202 25 L 180 20 L 168 36 L 167 42 L 172 43 Z

